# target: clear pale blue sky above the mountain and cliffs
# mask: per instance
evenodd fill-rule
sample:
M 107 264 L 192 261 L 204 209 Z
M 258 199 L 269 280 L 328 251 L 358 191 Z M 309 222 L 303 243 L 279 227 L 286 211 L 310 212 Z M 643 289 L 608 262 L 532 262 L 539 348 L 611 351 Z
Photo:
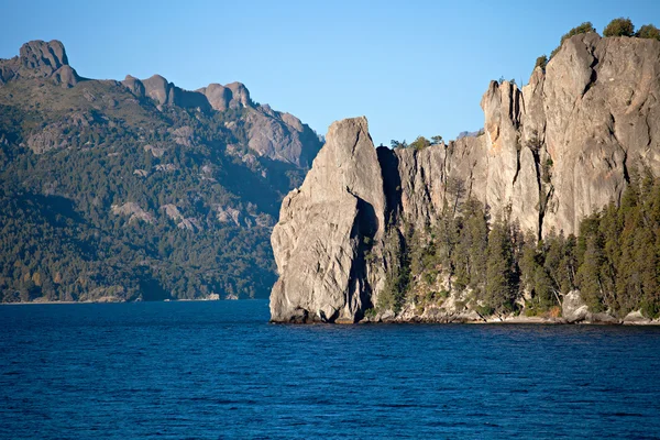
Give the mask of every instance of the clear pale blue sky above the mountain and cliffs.
M 617 16 L 660 28 L 660 0 L 0 0 L 0 57 L 56 38 L 85 77 L 238 80 L 321 134 L 366 116 L 389 144 L 480 129 L 491 79 L 527 82 L 563 33 Z

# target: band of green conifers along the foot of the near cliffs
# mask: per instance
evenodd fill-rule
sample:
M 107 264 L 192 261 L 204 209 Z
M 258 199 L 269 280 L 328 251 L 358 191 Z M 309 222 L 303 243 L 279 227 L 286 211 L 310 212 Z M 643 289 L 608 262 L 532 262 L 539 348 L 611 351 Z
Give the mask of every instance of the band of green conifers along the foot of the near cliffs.
M 579 289 L 594 312 L 659 317 L 660 179 L 648 170 L 630 179 L 620 204 L 585 218 L 579 237 L 550 231 L 538 240 L 471 198 L 447 204 L 424 230 L 391 228 L 396 263 L 376 309 L 424 308 L 457 292 L 483 316 L 559 317 L 563 296 Z

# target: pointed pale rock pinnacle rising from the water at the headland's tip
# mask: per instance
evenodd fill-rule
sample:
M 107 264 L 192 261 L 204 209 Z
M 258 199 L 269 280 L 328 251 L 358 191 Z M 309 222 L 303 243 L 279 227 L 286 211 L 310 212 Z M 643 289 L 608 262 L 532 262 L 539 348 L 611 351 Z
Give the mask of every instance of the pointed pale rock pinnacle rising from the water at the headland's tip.
M 372 307 L 365 253 L 382 241 L 385 195 L 365 118 L 330 127 L 305 183 L 284 199 L 273 249 L 274 321 L 354 322 Z

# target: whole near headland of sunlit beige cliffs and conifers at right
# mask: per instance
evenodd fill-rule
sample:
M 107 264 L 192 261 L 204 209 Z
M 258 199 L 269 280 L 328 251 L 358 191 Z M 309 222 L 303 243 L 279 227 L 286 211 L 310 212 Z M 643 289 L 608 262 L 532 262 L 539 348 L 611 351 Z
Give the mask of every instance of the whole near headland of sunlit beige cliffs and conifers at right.
M 659 97 L 659 41 L 592 32 L 492 81 L 483 134 L 376 150 L 336 122 L 273 231 L 272 320 L 658 317 Z

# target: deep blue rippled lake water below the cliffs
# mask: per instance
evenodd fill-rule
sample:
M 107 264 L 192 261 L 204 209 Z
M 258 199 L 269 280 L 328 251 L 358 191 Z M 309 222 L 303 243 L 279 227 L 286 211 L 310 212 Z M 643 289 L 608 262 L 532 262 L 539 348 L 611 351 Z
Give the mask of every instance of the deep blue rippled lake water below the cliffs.
M 657 438 L 660 329 L 0 307 L 0 438 Z

